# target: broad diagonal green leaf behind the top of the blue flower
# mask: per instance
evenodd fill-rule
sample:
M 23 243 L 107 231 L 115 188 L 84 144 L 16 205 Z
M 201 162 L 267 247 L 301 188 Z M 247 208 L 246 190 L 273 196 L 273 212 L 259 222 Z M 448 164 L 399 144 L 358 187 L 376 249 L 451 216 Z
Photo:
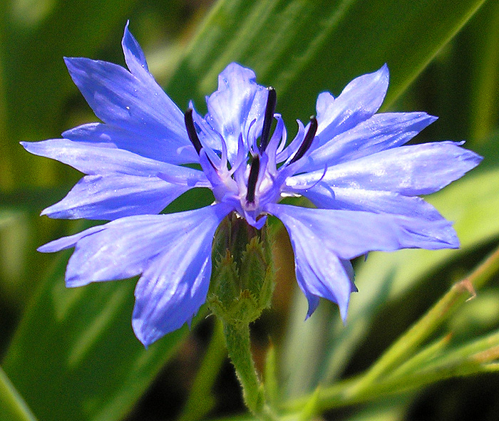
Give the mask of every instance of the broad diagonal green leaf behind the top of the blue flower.
M 388 63 L 386 106 L 484 1 L 219 1 L 167 92 L 180 107 L 189 98 L 201 105 L 216 87 L 218 73 L 237 61 L 252 68 L 259 82 L 276 88 L 277 110 L 290 123 L 314 113 L 321 90 L 337 95 L 355 76 Z

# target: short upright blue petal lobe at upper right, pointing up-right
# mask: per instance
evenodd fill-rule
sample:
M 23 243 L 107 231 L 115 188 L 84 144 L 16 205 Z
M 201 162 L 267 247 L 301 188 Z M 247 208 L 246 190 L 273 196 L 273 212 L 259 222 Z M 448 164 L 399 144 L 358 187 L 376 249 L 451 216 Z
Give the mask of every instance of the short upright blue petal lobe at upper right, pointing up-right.
M 330 93 L 321 93 L 317 98 L 320 145 L 371 118 L 383 103 L 388 83 L 385 64 L 379 71 L 352 80 L 336 99 Z

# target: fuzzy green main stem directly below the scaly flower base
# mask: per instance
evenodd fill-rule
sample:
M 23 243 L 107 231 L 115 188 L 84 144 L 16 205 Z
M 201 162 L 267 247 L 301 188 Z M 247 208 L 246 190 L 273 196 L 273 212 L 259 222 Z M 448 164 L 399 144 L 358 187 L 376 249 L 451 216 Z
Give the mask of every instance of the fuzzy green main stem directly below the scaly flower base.
M 240 381 L 246 406 L 260 420 L 276 420 L 277 418 L 272 415 L 265 402 L 263 384 L 254 368 L 249 343 L 249 325 L 224 323 L 224 334 L 229 357 Z

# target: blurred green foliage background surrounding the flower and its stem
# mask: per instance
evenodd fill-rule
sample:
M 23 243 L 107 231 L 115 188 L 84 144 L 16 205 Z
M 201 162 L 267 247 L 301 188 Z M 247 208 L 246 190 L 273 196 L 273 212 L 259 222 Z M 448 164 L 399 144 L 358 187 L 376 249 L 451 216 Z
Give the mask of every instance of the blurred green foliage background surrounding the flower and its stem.
M 253 68 L 259 83 L 276 88 L 277 110 L 294 135 L 294 119 L 305 121 L 314 113 L 322 90 L 339 95 L 349 80 L 388 63 L 391 85 L 383 109 L 439 117 L 413 142 L 466 140 L 466 147 L 485 158 L 430 199 L 456 222 L 461 250 L 374 253 L 356 262 L 360 291 L 345 327 L 336 307 L 326 302 L 303 322 L 306 307 L 296 293 L 292 251 L 278 229 L 281 270 L 274 308 L 254 325 L 260 370 L 269 343 L 274 345 L 277 401 L 369 368 L 497 246 L 498 1 L 1 1 L 0 365 L 38 420 L 197 420 L 245 412 L 206 311 L 192 331 L 183 328 L 144 350 L 130 326 L 135 281 L 66 290 L 63 271 L 71 253 L 36 252 L 37 246 L 88 226 L 38 216 L 81 175 L 29 155 L 19 142 L 59 137 L 96 121 L 63 56 L 124 65 L 120 40 L 127 19 L 151 73 L 182 109 L 193 99 L 203 110 L 217 74 L 237 61 Z M 208 199 L 205 192 L 191 192 L 167 212 Z M 428 341 L 451 338 L 451 352 L 498 328 L 498 277 L 490 274 L 478 297 L 448 315 Z M 495 374 L 399 392 L 380 392 L 334 410 L 331 405 L 317 417 L 499 418 Z

